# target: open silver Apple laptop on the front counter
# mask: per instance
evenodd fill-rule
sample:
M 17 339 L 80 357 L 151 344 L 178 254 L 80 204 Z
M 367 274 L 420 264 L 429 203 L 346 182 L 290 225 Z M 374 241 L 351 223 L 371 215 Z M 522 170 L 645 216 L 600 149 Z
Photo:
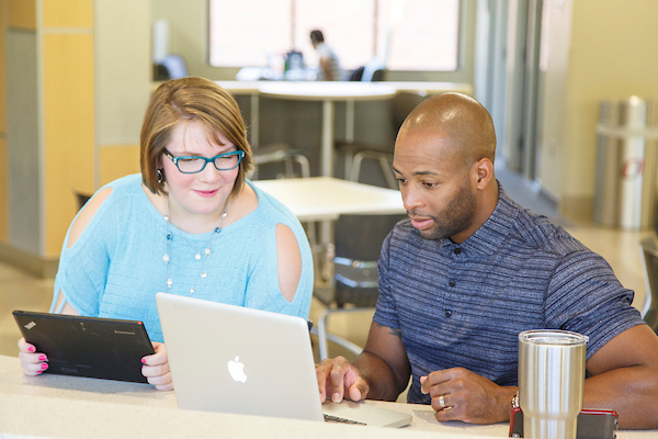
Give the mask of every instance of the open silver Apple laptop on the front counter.
M 411 415 L 320 403 L 307 322 L 157 293 L 179 408 L 401 427 Z M 325 416 L 326 415 L 326 416 Z

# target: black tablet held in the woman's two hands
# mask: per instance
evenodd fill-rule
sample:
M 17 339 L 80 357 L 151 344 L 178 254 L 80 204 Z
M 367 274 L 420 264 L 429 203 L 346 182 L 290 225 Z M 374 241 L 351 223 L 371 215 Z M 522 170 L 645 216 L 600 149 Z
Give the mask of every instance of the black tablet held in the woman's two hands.
M 146 383 L 141 357 L 154 352 L 141 322 L 14 311 L 25 340 L 48 356 L 44 373 Z

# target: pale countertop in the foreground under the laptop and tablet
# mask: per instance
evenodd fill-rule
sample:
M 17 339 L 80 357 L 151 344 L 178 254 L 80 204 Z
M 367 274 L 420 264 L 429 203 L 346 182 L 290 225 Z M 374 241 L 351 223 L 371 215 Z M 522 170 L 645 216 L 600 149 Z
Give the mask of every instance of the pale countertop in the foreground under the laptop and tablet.
M 218 395 L 220 397 L 220 395 Z M 254 402 L 275 404 L 275 402 Z M 173 392 L 146 384 L 72 378 L 25 376 L 15 357 L 0 356 L 0 438 L 328 438 L 481 439 L 506 438 L 507 423 L 477 426 L 439 423 L 427 405 L 367 401 L 412 415 L 398 429 L 347 426 L 179 410 Z M 658 430 L 619 431 L 619 439 L 656 438 Z

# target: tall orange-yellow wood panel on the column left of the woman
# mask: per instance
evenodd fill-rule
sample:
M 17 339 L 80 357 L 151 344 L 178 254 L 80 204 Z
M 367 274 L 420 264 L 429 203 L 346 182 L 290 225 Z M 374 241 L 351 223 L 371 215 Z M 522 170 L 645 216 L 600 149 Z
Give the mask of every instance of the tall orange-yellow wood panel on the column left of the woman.
M 45 256 L 57 256 L 78 211 L 73 191 L 93 191 L 94 79 L 91 34 L 43 36 Z

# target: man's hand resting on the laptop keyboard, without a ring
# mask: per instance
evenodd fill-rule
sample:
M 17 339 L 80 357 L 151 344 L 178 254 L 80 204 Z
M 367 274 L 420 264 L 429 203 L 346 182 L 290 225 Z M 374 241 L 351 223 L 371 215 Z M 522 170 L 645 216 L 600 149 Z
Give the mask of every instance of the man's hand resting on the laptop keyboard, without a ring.
M 344 397 L 361 401 L 365 399 L 370 392 L 367 381 L 344 357 L 326 359 L 316 364 L 316 374 L 322 403 L 327 395 L 331 395 L 334 403 L 340 403 Z

